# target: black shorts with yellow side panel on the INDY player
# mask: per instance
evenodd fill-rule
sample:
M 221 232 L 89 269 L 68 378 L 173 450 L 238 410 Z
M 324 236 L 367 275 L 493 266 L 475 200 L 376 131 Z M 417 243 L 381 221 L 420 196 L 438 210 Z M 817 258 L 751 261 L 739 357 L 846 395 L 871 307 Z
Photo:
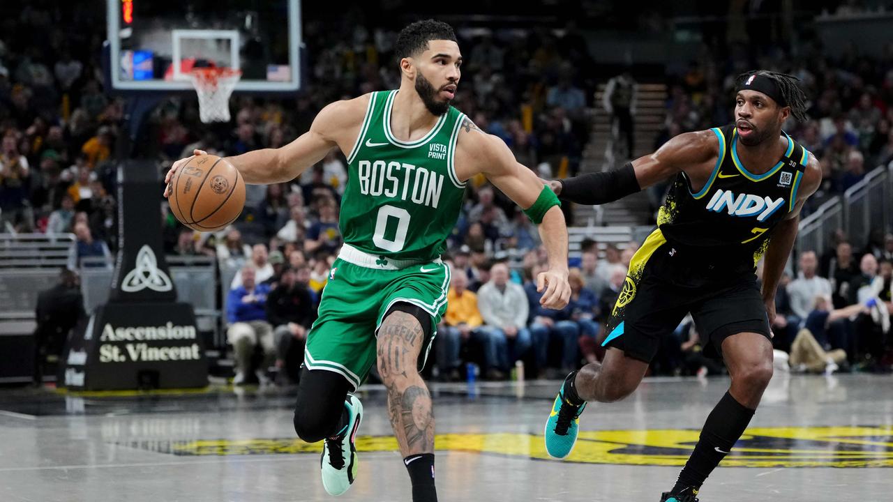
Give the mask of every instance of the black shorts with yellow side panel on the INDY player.
M 689 312 L 706 356 L 721 357 L 722 340 L 737 333 L 771 339 L 755 274 L 730 270 L 703 252 L 674 247 L 655 230 L 630 262 L 602 346 L 650 363 Z

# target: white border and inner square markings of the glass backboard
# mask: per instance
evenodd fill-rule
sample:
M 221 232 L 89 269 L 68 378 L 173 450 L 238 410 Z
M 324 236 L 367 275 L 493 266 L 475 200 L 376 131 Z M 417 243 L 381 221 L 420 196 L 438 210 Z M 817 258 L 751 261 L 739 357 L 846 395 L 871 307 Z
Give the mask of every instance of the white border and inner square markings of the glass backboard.
M 244 91 L 244 92 L 292 92 L 296 91 L 301 86 L 301 63 L 300 63 L 300 47 L 301 47 L 301 0 L 287 0 L 288 3 L 288 38 L 289 38 L 289 46 L 288 46 L 288 70 L 291 75 L 291 79 L 289 81 L 266 81 L 266 80 L 246 80 L 240 79 L 238 84 L 236 85 L 235 92 Z M 106 0 L 106 16 L 107 16 L 107 24 L 108 24 L 108 32 L 106 36 L 108 37 L 109 45 L 111 48 L 111 78 L 112 78 L 112 87 L 120 90 L 128 90 L 128 91 L 184 91 L 184 90 L 193 90 L 192 82 L 188 79 L 187 75 L 183 75 L 179 71 L 179 64 L 175 63 L 179 61 L 179 44 L 174 43 L 172 46 L 172 50 L 177 54 L 171 54 L 171 64 L 174 64 L 174 78 L 171 80 L 164 79 L 152 79 L 152 80 L 126 80 L 121 79 L 121 32 L 124 30 L 130 30 L 130 27 L 121 29 L 121 23 L 119 22 L 119 17 L 121 13 L 119 9 L 121 8 L 121 0 Z M 237 42 L 238 42 L 238 31 L 237 30 L 229 30 L 229 29 L 221 29 L 221 30 L 212 30 L 212 29 L 172 29 L 171 30 L 171 38 L 174 38 L 174 32 L 204 32 L 204 33 L 213 33 L 213 32 L 230 32 L 236 31 L 237 33 Z M 184 37 L 184 38 L 196 38 L 196 37 Z M 197 37 L 201 38 L 201 37 Z M 227 38 L 227 37 L 221 37 Z M 238 43 L 230 45 L 230 50 L 235 51 L 235 56 L 232 58 L 232 61 L 236 62 L 237 66 L 234 68 L 238 69 Z

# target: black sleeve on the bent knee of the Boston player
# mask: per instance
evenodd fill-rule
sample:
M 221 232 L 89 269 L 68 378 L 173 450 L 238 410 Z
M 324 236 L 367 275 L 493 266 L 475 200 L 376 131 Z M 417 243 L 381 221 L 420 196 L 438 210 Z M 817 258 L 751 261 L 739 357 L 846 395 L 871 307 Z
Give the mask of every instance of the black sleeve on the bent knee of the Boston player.
M 350 389 L 347 379 L 336 372 L 304 368 L 295 404 L 297 437 L 315 443 L 338 434 L 346 425 L 344 399 Z

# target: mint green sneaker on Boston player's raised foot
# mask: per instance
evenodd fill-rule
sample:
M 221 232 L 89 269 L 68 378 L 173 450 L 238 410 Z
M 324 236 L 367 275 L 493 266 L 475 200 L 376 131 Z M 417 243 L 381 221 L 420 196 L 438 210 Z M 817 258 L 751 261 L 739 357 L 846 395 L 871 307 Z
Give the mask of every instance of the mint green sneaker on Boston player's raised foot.
M 360 428 L 363 419 L 363 403 L 356 396 L 347 394 L 344 406 L 350 419 L 344 429 L 337 435 L 326 438 L 322 445 L 322 486 L 329 495 L 341 495 L 354 484 L 356 479 L 356 466 L 359 458 L 356 456 L 356 430 Z

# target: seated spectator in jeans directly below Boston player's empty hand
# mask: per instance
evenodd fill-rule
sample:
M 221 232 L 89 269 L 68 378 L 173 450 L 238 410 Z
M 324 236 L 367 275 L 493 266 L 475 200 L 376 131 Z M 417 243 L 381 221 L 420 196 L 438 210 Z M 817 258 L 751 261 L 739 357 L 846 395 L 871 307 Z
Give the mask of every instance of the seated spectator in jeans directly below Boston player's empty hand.
M 539 305 L 539 298 L 543 295 L 537 291 L 536 278 L 544 270 L 546 269 L 542 265 L 534 265 L 530 270 L 530 280 L 524 284 L 524 292 L 530 305 L 530 337 L 533 339 L 533 352 L 536 355 L 539 373 L 546 373 L 548 378 L 561 378 L 576 369 L 580 361 L 578 356 L 580 325 L 571 320 L 570 303 L 561 310 L 547 309 Z M 551 369 L 547 371 L 548 348 L 554 344 L 561 347 L 558 372 Z

